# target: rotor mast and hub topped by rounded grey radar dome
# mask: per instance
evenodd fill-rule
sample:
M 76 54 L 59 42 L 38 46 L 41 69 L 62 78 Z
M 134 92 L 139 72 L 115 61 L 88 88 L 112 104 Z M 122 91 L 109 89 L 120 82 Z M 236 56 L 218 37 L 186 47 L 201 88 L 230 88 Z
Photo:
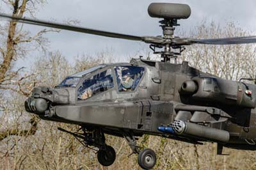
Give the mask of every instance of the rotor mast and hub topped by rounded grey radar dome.
M 154 51 L 154 54 L 161 54 L 162 61 L 166 62 L 174 58 L 175 63 L 177 63 L 177 56 L 181 54 L 184 47 L 175 43 L 175 37 L 173 36 L 175 26 L 180 26 L 177 20 L 188 19 L 190 14 L 191 10 L 188 4 L 152 3 L 148 6 L 150 17 L 163 18 L 159 23 L 163 29 L 164 41 L 150 44 L 150 49 Z M 163 51 L 156 52 L 156 48 L 163 47 Z M 174 52 L 172 49 L 179 49 L 179 52 Z

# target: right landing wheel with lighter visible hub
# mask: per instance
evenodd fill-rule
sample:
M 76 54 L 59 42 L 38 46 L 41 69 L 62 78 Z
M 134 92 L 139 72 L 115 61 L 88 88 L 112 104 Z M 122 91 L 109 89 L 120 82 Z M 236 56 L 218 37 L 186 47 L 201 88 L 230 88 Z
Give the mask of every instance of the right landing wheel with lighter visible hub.
M 138 163 L 143 169 L 152 169 L 156 164 L 156 153 L 150 149 L 140 151 Z

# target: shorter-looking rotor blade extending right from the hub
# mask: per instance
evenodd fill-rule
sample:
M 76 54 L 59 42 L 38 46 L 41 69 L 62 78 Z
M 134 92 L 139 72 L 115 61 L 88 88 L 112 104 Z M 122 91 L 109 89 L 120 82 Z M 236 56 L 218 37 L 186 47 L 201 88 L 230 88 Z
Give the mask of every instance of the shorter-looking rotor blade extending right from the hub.
M 192 43 L 212 44 L 212 45 L 228 45 L 239 43 L 256 43 L 256 36 L 240 36 L 232 38 L 216 38 L 216 39 L 202 39 L 190 40 Z

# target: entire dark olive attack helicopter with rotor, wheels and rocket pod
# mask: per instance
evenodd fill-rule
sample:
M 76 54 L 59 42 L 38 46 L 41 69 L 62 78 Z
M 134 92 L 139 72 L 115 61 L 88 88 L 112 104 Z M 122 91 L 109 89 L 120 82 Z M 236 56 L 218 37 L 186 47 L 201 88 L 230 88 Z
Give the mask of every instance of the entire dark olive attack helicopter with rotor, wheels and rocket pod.
M 193 144 L 214 142 L 219 155 L 223 146 L 256 150 L 256 86 L 220 79 L 176 60 L 186 45 L 255 43 L 256 36 L 204 40 L 173 36 L 177 20 L 191 14 L 187 4 L 152 3 L 148 14 L 163 19 L 159 21 L 163 36 L 124 35 L 0 14 L 26 24 L 142 41 L 161 55 L 162 61 L 140 58 L 102 64 L 70 75 L 54 88 L 36 87 L 25 102 L 26 111 L 44 120 L 80 125 L 77 132 L 59 130 L 74 135 L 86 147 L 98 148 L 102 166 L 110 166 L 116 158 L 104 134 L 124 137 L 132 152 L 138 153 L 143 169 L 156 164 L 156 153 L 136 144 L 143 134 Z

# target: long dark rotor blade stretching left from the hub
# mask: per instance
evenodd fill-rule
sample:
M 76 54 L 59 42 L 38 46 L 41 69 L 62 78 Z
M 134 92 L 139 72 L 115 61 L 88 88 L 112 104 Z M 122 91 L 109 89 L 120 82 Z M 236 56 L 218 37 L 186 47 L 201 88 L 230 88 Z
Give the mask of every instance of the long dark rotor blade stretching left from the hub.
M 97 29 L 90 29 L 90 28 L 86 28 L 86 27 L 70 26 L 67 24 L 47 22 L 44 20 L 34 20 L 34 19 L 13 17 L 11 15 L 6 15 L 4 13 L 0 13 L 0 17 L 7 18 L 7 19 L 13 19 L 13 20 L 16 20 L 17 22 L 22 22 L 25 24 L 32 24 L 32 25 L 36 25 L 36 26 L 53 27 L 53 28 L 57 28 L 57 29 L 65 29 L 68 31 L 75 31 L 75 32 L 86 33 L 86 34 L 91 34 L 91 35 L 107 36 L 107 37 L 111 37 L 111 38 L 122 38 L 125 40 L 142 41 L 142 37 L 140 37 L 140 36 L 124 35 L 124 34 L 120 34 L 120 33 L 111 33 L 108 31 L 100 31 Z

